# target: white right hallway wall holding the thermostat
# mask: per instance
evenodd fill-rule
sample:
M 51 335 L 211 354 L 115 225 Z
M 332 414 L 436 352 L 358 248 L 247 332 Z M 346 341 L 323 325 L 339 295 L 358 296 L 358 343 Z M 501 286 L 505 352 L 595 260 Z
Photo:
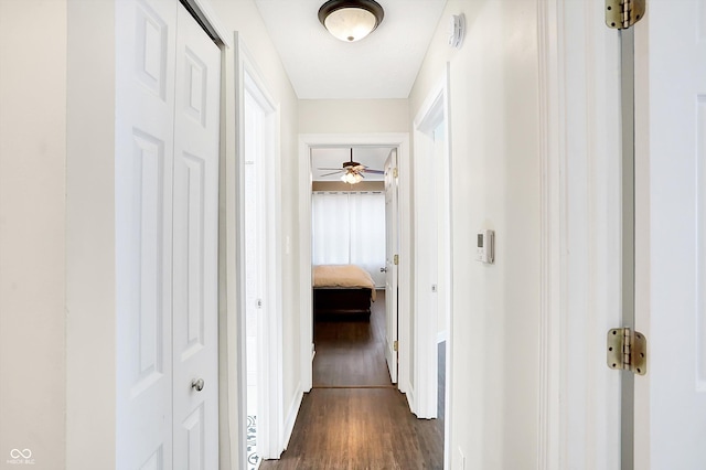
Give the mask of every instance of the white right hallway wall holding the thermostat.
M 539 159 L 537 6 L 450 0 L 409 103 L 417 114 L 450 63 L 453 318 L 452 469 L 536 467 Z M 447 19 L 463 12 L 461 50 Z M 473 260 L 495 231 L 495 264 Z

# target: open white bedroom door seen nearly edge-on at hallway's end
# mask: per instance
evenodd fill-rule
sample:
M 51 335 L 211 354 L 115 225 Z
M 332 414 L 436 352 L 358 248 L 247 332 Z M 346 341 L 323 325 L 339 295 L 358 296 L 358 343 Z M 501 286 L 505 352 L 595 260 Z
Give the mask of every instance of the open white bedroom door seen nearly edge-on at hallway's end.
M 385 360 L 393 383 L 397 383 L 397 149 L 385 160 Z

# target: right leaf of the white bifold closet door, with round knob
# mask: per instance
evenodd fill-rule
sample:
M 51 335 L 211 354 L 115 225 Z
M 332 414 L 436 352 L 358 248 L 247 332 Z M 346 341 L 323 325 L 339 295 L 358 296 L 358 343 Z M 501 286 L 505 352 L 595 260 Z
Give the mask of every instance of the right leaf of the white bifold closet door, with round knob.
M 174 469 L 217 469 L 221 50 L 181 7 L 178 32 L 172 308 Z

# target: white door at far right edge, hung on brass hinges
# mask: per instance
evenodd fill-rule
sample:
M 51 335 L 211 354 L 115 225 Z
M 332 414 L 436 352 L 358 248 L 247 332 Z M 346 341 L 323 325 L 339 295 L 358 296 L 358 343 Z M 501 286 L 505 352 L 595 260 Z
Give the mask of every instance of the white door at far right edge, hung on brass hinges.
M 635 468 L 706 462 L 706 1 L 635 24 Z

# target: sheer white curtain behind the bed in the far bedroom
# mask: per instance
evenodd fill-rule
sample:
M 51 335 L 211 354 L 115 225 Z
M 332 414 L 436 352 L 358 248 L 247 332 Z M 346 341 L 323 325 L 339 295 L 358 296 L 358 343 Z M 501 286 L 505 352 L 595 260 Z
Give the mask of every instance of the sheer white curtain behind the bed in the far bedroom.
M 383 287 L 385 193 L 315 192 L 312 199 L 314 265 L 357 265 Z

